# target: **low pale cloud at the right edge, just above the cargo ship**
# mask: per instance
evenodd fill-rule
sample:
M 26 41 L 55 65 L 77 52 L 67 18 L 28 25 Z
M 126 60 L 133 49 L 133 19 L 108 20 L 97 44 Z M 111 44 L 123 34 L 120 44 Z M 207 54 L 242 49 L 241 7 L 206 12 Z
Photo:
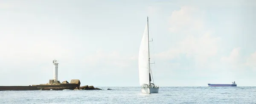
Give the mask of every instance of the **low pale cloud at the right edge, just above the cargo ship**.
M 247 58 L 247 59 L 246 59 Z M 241 53 L 241 48 L 234 48 L 228 56 L 223 56 L 220 59 L 220 64 L 218 64 L 218 73 L 222 73 L 225 78 L 230 80 L 236 80 L 237 82 L 243 82 L 243 79 L 250 80 L 253 78 L 256 68 L 256 52 L 250 54 L 249 57 L 244 56 Z M 241 85 L 245 85 L 241 83 Z

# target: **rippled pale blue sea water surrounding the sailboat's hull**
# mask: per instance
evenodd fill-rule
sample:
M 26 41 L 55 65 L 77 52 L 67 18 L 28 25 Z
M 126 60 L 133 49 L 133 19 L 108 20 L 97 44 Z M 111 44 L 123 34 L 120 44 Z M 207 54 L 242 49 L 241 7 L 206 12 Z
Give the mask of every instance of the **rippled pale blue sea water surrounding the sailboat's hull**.
M 256 87 L 160 87 L 154 94 L 140 87 L 99 88 L 0 91 L 0 104 L 256 104 Z

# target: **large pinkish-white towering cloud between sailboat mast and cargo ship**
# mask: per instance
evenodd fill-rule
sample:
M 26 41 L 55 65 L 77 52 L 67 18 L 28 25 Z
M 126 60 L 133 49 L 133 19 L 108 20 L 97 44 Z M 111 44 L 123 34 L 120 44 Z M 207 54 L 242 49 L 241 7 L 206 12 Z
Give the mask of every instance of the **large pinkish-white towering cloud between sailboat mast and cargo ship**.
M 194 58 L 198 64 L 204 64 L 209 57 L 217 54 L 220 37 L 212 37 L 210 31 L 205 32 L 204 12 L 198 8 L 183 6 L 179 11 L 172 12 L 169 21 L 172 32 L 186 37 L 168 51 L 156 54 L 158 58 L 174 59 L 183 53 Z

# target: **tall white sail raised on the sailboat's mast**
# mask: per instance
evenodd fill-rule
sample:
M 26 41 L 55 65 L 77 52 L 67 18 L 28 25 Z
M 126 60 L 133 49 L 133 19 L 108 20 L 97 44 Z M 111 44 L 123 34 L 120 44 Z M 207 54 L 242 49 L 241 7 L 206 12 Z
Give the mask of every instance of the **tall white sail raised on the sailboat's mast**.
M 148 62 L 148 24 L 146 24 L 144 34 L 140 43 L 139 51 L 139 78 L 140 85 L 149 84 L 149 62 Z

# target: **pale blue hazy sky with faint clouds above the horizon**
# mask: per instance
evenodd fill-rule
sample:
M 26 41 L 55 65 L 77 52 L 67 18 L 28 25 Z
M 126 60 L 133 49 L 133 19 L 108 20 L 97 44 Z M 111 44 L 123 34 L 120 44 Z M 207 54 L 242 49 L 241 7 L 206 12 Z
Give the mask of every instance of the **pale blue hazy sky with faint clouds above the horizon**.
M 0 85 L 139 87 L 147 16 L 155 84 L 256 86 L 255 0 L 0 0 Z

